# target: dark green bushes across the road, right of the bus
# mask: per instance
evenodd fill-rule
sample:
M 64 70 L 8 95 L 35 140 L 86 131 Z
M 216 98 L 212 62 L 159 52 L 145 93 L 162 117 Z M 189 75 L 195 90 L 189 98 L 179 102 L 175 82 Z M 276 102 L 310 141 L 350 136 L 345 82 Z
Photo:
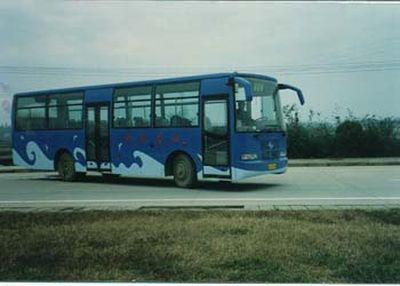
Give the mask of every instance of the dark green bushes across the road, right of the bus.
M 400 119 L 350 115 L 336 122 L 315 120 L 310 110 L 308 122 L 299 118 L 295 105 L 284 106 L 288 130 L 289 158 L 389 157 L 400 156 Z

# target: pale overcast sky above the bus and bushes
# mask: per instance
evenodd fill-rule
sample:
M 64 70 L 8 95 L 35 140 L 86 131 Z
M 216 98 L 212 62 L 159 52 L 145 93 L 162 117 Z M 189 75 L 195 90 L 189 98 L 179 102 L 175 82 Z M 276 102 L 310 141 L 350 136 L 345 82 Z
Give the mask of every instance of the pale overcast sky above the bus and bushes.
M 0 2 L 0 122 L 15 92 L 234 70 L 400 117 L 400 3 Z

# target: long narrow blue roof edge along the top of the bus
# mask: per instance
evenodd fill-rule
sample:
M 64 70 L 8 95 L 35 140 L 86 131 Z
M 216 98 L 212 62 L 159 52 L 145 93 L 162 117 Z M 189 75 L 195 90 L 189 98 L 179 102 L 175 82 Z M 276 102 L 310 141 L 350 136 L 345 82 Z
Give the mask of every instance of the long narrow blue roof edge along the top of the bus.
M 28 95 L 35 95 L 35 94 L 47 94 L 47 93 L 64 93 L 64 92 L 84 91 L 84 90 L 98 89 L 98 88 L 114 88 L 114 87 L 125 87 L 125 86 L 127 87 L 127 86 L 132 86 L 132 85 L 174 83 L 174 82 L 181 82 L 181 81 L 182 82 L 195 81 L 195 80 L 221 78 L 221 77 L 232 77 L 232 76 L 255 77 L 255 78 L 260 78 L 260 79 L 277 82 L 277 80 L 275 78 L 261 75 L 261 74 L 231 72 L 231 73 L 214 73 L 214 74 L 204 74 L 204 75 L 195 75 L 195 76 L 183 76 L 183 77 L 174 77 L 174 78 L 144 80 L 144 81 L 88 85 L 88 86 L 79 86 L 79 87 L 66 87 L 66 88 L 47 89 L 47 90 L 38 90 L 38 91 L 27 91 L 27 92 L 16 93 L 14 96 L 25 96 L 25 95 L 28 96 Z

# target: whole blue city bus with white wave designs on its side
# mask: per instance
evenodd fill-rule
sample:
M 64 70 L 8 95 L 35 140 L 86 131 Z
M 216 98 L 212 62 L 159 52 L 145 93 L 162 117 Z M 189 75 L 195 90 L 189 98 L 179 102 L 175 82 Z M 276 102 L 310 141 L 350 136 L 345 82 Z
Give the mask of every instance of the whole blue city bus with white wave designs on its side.
M 197 180 L 281 174 L 287 135 L 279 90 L 258 74 L 219 73 L 18 93 L 12 111 L 15 165 Z

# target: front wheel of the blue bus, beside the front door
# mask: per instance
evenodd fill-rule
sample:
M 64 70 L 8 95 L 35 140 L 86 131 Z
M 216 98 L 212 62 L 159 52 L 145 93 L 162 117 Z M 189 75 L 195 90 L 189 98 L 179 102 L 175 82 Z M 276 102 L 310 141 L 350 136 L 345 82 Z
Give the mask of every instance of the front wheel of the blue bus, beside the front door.
M 184 154 L 175 157 L 173 175 L 175 184 L 180 188 L 193 188 L 197 183 L 197 174 L 193 162 Z

